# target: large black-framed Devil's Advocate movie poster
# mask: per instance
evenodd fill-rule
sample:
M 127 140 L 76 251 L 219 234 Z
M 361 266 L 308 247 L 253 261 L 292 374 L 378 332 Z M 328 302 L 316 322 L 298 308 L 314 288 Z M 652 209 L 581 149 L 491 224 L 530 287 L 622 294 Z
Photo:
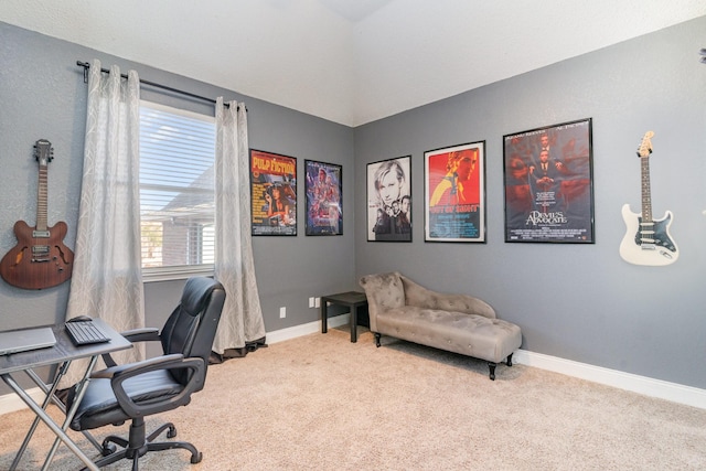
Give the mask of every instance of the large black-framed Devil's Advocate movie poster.
M 591 118 L 503 137 L 505 242 L 593 244 Z

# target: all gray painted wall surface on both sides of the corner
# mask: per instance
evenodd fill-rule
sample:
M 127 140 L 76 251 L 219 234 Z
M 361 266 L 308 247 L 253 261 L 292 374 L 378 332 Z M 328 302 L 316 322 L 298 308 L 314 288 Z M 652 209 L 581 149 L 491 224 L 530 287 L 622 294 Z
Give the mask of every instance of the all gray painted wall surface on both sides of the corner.
M 700 373 L 706 352 L 703 46 L 706 18 L 351 129 L 0 23 L 0 253 L 14 246 L 17 220 L 34 221 L 31 150 L 40 138 L 53 142 L 56 157 L 49 173 L 50 224 L 66 221 L 65 242 L 74 246 L 86 95 L 75 62 L 97 57 L 124 71 L 133 67 L 150 81 L 245 100 L 250 147 L 297 157 L 300 174 L 304 159 L 343 164 L 343 236 L 306 237 L 300 206 L 299 236 L 254 239 L 267 331 L 315 321 L 311 296 L 353 289 L 359 276 L 398 269 L 430 288 L 485 299 L 501 318 L 522 327 L 526 350 L 706 388 Z M 147 90 L 143 97 L 176 100 Z M 593 118 L 596 244 L 505 244 L 502 136 L 588 117 Z M 640 207 L 634 152 L 649 129 L 655 131 L 654 214 L 674 212 L 672 235 L 681 250 L 677 263 L 662 268 L 632 266 L 618 255 L 624 233 L 620 208 Z M 477 140 L 486 142 L 488 243 L 427 244 L 424 151 Z M 413 156 L 414 242 L 367 243 L 366 163 L 406 154 Z M 161 324 L 182 285 L 146 286 L 148 324 Z M 68 287 L 24 291 L 0 283 L 1 328 L 61 321 Z M 287 307 L 282 320 L 280 306 Z

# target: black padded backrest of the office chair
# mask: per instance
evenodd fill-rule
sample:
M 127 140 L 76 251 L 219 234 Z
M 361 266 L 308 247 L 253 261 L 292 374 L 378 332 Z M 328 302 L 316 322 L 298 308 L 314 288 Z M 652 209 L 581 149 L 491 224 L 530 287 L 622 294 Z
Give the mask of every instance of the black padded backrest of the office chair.
M 207 367 L 224 302 L 225 289 L 218 281 L 205 277 L 189 278 L 181 295 L 181 302 L 160 333 L 164 354 L 197 356 Z M 180 383 L 186 383 L 185 374 L 172 374 Z

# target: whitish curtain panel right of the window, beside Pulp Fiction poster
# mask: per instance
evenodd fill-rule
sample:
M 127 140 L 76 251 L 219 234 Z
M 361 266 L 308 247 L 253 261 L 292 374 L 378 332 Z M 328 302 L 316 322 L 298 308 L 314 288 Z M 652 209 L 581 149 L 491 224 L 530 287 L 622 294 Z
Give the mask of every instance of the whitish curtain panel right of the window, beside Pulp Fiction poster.
M 215 278 L 226 298 L 213 351 L 243 349 L 265 338 L 250 237 L 247 111 L 245 105 L 216 100 Z

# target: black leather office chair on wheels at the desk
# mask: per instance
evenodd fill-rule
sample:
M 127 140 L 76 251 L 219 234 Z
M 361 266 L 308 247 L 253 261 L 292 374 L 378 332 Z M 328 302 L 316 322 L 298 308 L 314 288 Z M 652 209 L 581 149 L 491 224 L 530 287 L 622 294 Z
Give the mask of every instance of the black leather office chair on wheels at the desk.
M 153 442 L 167 429 L 167 437 L 174 438 L 176 429 L 169 422 L 146 436 L 145 417 L 185 406 L 191 395 L 203 388 L 224 301 L 225 290 L 220 282 L 190 278 L 181 303 L 161 332 L 137 329 L 122 333 L 131 342 L 160 341 L 164 355 L 126 365 L 116 365 L 109 355 L 104 356 L 108 367 L 92 375 L 71 428 L 84 431 L 108 424 L 121 425 L 126 420 L 132 422 L 127 440 L 109 436 L 103 441 L 104 458 L 96 465 L 104 467 L 126 458 L 132 460 L 135 471 L 139 458 L 148 451 L 172 448 L 191 451 L 192 463 L 201 461 L 201 452 L 189 442 Z M 74 390 L 68 393 L 68 408 L 74 400 Z M 116 451 L 113 443 L 124 449 Z

